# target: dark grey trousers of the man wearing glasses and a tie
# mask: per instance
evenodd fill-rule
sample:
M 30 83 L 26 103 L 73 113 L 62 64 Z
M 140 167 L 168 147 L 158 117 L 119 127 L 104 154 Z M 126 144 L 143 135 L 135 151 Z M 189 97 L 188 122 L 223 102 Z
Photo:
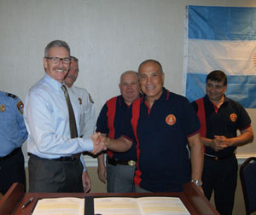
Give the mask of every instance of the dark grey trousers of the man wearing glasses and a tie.
M 28 160 L 29 192 L 83 192 L 83 165 L 80 160 L 49 160 L 30 155 Z

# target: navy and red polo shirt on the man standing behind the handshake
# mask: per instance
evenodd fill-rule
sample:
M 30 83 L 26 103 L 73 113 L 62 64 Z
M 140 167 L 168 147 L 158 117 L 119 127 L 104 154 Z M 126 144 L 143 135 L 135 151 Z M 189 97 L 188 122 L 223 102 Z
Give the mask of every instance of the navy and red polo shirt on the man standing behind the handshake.
M 103 106 L 96 122 L 96 131 L 107 134 L 108 137 L 116 139 L 121 136 L 124 115 L 129 107 L 123 96 L 116 96 L 108 100 Z M 137 160 L 136 142 L 129 151 L 125 153 L 113 153 L 108 150 L 108 156 L 117 160 Z

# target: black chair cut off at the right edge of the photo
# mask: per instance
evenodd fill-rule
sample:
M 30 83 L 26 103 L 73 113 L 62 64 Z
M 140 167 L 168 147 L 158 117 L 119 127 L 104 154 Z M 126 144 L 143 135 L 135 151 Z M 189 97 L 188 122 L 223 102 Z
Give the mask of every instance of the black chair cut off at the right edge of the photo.
M 247 215 L 256 212 L 256 157 L 247 158 L 240 167 L 241 188 Z

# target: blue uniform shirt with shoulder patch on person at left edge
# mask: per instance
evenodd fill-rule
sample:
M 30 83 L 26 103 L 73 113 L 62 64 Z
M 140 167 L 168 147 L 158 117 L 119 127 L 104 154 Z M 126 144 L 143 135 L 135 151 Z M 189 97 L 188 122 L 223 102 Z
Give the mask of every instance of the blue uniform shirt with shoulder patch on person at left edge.
M 18 96 L 0 91 L 0 157 L 21 147 L 26 137 L 23 103 Z

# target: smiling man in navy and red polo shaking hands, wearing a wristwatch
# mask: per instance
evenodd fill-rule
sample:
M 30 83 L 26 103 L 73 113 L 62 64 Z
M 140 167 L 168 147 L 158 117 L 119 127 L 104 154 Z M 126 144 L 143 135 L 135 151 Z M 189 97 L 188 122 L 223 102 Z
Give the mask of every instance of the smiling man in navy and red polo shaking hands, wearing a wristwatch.
M 137 142 L 136 192 L 180 192 L 190 181 L 203 192 L 203 151 L 195 111 L 185 97 L 163 87 L 160 62 L 143 61 L 138 73 L 144 96 L 131 104 L 121 136 L 102 137 L 102 142 L 115 152 L 125 152 Z

